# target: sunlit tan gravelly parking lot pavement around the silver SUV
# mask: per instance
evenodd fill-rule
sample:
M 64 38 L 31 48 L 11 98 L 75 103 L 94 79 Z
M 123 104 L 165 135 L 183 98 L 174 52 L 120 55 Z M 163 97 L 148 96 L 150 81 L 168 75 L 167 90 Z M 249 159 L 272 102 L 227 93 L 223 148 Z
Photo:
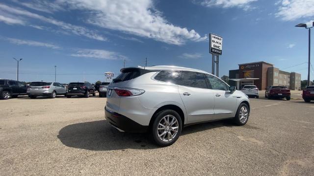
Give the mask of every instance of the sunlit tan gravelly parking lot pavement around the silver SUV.
M 314 173 L 314 102 L 251 99 L 245 126 L 186 127 L 172 146 L 121 133 L 106 98 L 1 100 L 0 175 L 264 175 Z

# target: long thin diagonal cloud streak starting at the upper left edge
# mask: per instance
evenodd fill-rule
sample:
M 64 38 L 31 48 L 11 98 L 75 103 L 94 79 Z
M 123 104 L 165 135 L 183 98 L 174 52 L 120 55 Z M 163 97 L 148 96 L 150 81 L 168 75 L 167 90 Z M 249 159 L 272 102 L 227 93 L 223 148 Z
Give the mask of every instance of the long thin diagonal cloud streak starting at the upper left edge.
M 105 37 L 97 34 L 95 31 L 92 31 L 92 30 L 87 29 L 85 27 L 69 24 L 66 22 L 61 22 L 61 21 L 55 20 L 53 18 L 46 18 L 44 16 L 41 16 L 41 15 L 38 15 L 35 13 L 31 13 L 31 12 L 26 11 L 26 10 L 9 7 L 9 6 L 7 6 L 5 4 L 1 4 L 1 3 L 0 3 L 0 9 L 4 10 L 10 14 L 20 15 L 20 16 L 24 16 L 24 17 L 28 17 L 28 18 L 32 18 L 32 19 L 37 19 L 37 20 L 40 20 L 42 22 L 47 22 L 47 23 L 56 25 L 56 26 L 62 28 L 63 30 L 69 31 L 69 32 L 71 32 L 75 35 L 78 35 L 78 36 L 85 36 L 85 37 L 88 37 L 90 39 L 106 41 Z

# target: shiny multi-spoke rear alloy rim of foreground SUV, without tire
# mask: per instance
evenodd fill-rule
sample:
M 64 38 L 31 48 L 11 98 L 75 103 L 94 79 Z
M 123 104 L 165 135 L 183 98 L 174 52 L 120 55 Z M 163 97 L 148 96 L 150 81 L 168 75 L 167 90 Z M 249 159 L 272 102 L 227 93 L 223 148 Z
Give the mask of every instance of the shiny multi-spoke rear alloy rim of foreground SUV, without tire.
M 160 140 L 169 142 L 179 131 L 179 121 L 173 115 L 166 115 L 158 123 L 157 134 Z

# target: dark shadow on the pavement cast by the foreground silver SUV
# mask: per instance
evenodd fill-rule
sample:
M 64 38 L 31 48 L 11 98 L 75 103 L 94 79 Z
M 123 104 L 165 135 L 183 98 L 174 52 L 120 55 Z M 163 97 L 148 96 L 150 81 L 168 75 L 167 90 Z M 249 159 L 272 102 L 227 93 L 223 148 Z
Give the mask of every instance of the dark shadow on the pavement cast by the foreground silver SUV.
M 234 125 L 228 120 L 197 124 L 184 128 L 181 135 L 223 126 Z M 246 128 L 255 129 L 249 125 Z M 119 132 L 106 120 L 68 125 L 59 131 L 57 137 L 68 147 L 93 151 L 158 148 L 149 140 L 147 133 Z

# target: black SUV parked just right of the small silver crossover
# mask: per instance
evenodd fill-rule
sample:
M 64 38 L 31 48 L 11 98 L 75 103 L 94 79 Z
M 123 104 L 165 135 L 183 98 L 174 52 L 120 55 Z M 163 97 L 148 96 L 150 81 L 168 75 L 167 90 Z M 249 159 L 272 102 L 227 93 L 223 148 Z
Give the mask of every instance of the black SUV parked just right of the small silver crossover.
M 95 87 L 88 82 L 70 83 L 68 86 L 67 97 L 71 98 L 73 95 L 89 97 L 89 94 L 95 96 Z

